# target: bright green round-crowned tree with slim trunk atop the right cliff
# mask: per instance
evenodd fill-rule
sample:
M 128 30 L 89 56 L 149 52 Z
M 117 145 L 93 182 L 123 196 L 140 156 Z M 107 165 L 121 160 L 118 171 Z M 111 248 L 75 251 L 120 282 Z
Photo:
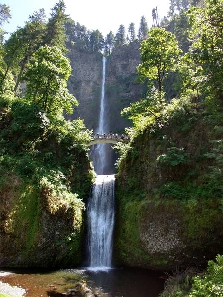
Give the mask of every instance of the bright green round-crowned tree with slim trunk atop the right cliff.
M 153 27 L 149 37 L 141 42 L 142 63 L 137 67 L 141 77 L 155 80 L 158 91 L 163 91 L 163 80 L 167 71 L 173 71 L 181 53 L 178 43 L 171 32 L 163 28 Z

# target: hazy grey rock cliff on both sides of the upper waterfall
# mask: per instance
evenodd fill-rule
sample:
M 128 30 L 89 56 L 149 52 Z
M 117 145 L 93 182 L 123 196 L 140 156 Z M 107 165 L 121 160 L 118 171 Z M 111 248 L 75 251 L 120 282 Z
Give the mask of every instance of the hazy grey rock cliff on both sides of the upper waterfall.
M 105 101 L 108 119 L 105 133 L 122 131 L 130 125 L 120 111 L 142 98 L 145 87 L 136 82 L 136 66 L 140 64 L 139 42 L 114 49 L 106 61 Z M 102 55 L 70 49 L 72 76 L 69 90 L 79 101 L 71 118 L 80 116 L 89 129 L 96 130 L 100 112 Z

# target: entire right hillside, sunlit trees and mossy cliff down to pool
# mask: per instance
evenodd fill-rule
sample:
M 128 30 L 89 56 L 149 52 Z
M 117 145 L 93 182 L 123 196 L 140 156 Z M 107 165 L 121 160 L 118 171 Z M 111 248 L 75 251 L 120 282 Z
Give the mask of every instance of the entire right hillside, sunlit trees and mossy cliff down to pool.
M 192 44 L 175 51 L 171 68 L 166 49 L 176 44 L 159 44 L 164 29 L 152 28 L 141 44 L 138 69 L 149 90 L 122 111 L 133 128 L 131 143 L 117 146 L 117 263 L 175 269 L 223 253 L 223 2 L 203 4 L 186 12 Z M 178 96 L 169 101 L 170 76 Z

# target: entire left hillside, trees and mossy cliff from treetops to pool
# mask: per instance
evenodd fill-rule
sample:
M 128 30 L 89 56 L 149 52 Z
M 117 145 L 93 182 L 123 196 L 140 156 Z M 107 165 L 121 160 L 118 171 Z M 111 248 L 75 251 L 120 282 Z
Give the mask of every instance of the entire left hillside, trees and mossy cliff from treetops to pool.
M 63 117 L 78 104 L 67 90 L 64 17 L 59 1 L 47 25 L 36 12 L 0 44 L 1 267 L 82 262 L 93 171 L 90 131 Z

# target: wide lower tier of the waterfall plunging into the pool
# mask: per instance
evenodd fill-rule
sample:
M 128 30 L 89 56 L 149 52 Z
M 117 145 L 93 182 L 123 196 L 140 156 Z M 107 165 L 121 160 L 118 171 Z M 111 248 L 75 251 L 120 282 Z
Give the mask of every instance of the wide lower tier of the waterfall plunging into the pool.
M 88 266 L 111 267 L 114 228 L 114 175 L 97 175 L 87 206 Z

